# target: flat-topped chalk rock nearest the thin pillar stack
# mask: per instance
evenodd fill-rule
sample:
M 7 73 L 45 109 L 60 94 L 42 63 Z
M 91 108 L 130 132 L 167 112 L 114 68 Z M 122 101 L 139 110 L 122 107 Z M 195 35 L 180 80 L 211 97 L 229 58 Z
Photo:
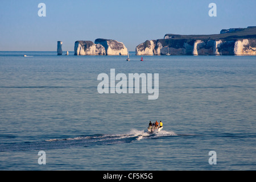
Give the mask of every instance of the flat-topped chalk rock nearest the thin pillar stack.
M 74 47 L 75 55 L 105 55 L 105 48 L 101 44 L 92 41 L 76 41 Z

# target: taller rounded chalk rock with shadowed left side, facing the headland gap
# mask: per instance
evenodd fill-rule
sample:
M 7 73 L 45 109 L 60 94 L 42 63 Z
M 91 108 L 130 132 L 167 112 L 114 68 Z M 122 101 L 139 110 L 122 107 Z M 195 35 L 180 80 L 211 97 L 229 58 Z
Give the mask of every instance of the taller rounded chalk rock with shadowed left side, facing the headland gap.
M 95 44 L 101 44 L 105 50 L 106 55 L 127 55 L 128 51 L 125 44 L 111 39 L 96 39 Z

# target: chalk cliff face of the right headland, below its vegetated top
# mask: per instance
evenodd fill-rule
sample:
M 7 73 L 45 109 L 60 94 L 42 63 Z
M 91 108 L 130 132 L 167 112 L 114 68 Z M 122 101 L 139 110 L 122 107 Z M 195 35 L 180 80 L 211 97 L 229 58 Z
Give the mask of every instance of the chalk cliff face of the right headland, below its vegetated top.
M 136 55 L 256 55 L 256 40 L 147 40 L 139 44 Z M 154 43 L 154 44 L 153 44 Z M 193 43 L 193 45 L 191 45 Z

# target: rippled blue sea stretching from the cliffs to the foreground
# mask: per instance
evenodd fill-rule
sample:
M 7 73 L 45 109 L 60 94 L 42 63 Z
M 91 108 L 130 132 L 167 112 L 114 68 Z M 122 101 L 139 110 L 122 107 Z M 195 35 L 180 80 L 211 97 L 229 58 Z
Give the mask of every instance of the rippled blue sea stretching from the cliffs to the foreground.
M 256 169 L 255 56 L 130 59 L 0 52 L 0 169 Z M 112 68 L 159 73 L 158 99 L 99 94 Z M 156 120 L 163 130 L 147 134 Z

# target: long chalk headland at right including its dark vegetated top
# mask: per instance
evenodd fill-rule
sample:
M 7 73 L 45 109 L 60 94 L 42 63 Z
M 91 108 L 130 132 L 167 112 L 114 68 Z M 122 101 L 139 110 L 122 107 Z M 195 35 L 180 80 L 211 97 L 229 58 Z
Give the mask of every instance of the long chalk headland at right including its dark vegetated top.
M 166 34 L 146 40 L 136 55 L 256 55 L 256 27 L 230 28 L 213 35 Z

